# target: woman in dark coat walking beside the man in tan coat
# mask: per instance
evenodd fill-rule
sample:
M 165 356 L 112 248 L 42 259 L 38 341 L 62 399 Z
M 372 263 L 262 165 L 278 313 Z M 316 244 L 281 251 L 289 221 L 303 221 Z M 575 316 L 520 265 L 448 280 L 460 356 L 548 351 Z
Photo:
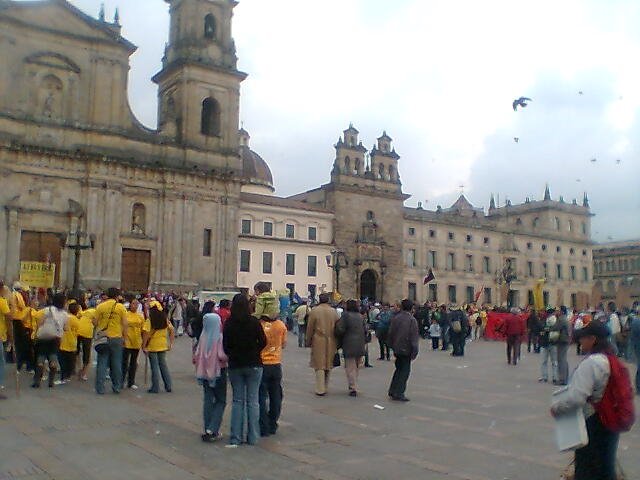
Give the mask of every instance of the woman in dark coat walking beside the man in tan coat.
M 336 324 L 336 337 L 342 346 L 349 395 L 358 395 L 358 369 L 364 364 L 366 324 L 358 311 L 358 302 L 348 300 Z

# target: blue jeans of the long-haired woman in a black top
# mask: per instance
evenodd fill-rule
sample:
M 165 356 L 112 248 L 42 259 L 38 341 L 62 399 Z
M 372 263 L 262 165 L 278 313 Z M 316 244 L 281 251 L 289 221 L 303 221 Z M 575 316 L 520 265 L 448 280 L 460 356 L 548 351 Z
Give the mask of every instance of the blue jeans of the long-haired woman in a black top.
M 260 381 L 262 380 L 262 367 L 230 368 L 229 380 L 233 389 L 229 443 L 232 445 L 240 445 L 242 443 L 246 417 L 247 443 L 255 445 L 258 443 L 258 437 L 260 436 L 258 392 L 260 390 Z

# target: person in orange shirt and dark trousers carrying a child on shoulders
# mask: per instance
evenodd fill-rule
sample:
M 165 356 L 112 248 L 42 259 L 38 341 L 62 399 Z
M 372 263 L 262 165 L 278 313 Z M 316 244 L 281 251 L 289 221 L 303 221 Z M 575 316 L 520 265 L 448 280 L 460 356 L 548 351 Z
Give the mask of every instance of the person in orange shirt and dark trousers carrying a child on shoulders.
M 269 287 L 259 282 L 255 286 L 256 293 L 264 288 Z M 266 311 L 268 310 L 264 312 Z M 267 345 L 260 352 L 262 359 L 262 380 L 259 391 L 261 437 L 276 434 L 282 410 L 282 349 L 287 346 L 287 326 L 278 318 L 278 315 L 279 313 L 270 311 L 269 315 L 262 313 L 259 317 L 267 339 Z

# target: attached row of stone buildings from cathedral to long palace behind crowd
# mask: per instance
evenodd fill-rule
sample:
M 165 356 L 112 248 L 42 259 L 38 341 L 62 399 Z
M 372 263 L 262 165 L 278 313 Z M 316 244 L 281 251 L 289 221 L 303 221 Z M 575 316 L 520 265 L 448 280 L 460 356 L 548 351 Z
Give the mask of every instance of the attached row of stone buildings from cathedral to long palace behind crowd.
M 87 288 L 227 290 L 259 280 L 301 296 L 584 306 L 592 288 L 590 209 L 542 200 L 485 212 L 404 206 L 399 155 L 350 126 L 330 181 L 283 198 L 238 130 L 232 0 L 167 0 L 170 33 L 158 126 L 127 102 L 135 46 L 65 0 L 0 1 L 0 276 L 56 265 Z M 328 167 L 329 169 L 329 167 Z M 423 284 L 433 272 L 435 279 Z M 507 285 L 509 287 L 507 287 Z M 507 298 L 510 297 L 510 298 Z

